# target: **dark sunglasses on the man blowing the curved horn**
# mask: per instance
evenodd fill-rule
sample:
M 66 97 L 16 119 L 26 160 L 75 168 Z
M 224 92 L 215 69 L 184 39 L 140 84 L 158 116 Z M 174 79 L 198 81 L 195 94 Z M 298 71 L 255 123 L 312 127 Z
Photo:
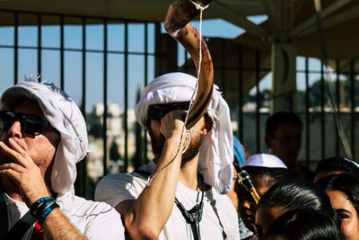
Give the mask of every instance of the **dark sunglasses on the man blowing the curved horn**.
M 169 104 L 155 104 L 149 107 L 148 117 L 150 120 L 160 121 L 167 113 L 175 110 L 188 111 L 189 102 L 174 102 Z

